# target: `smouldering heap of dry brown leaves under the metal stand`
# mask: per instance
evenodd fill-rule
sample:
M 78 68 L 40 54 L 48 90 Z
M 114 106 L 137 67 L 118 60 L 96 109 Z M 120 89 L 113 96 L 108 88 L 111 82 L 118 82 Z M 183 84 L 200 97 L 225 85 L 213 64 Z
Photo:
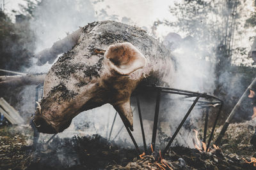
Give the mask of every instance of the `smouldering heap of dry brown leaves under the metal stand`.
M 160 160 L 158 158 L 160 157 Z M 162 157 L 162 158 L 161 158 Z M 245 160 L 245 159 L 244 159 Z M 143 158 L 129 162 L 127 166 L 109 165 L 108 169 L 254 169 L 253 164 L 243 159 L 229 157 L 220 148 L 212 152 L 175 146 L 168 154 L 153 152 Z M 253 159 L 254 160 L 254 159 Z M 249 162 L 252 163 L 252 162 Z

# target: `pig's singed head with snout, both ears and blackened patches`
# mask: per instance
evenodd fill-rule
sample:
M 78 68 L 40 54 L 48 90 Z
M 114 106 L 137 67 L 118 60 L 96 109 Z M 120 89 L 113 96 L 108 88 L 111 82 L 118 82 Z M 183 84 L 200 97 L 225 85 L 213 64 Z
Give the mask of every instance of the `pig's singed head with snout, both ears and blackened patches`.
M 147 59 L 128 42 L 88 52 L 84 46 L 64 53 L 51 67 L 33 117 L 35 126 L 39 132 L 62 132 L 77 114 L 109 103 L 133 131 L 130 97 L 143 79 Z

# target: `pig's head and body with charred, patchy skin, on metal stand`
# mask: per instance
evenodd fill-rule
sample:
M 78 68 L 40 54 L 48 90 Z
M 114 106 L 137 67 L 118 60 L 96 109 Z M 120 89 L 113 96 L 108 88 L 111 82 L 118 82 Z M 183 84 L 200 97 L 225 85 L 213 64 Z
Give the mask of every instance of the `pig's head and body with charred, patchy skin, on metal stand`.
M 109 103 L 133 130 L 132 92 L 140 83 L 170 85 L 170 57 L 169 50 L 138 27 L 112 21 L 88 24 L 45 77 L 44 98 L 33 122 L 39 132 L 62 132 L 77 114 Z

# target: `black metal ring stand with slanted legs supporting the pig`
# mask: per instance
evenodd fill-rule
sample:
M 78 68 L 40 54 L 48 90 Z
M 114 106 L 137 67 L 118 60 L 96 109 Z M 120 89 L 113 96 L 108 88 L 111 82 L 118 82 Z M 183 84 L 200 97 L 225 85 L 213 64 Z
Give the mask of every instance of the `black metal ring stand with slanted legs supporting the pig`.
M 37 87 L 36 87 L 37 88 Z M 157 92 L 157 97 L 156 97 L 156 109 L 155 109 L 155 115 L 154 115 L 154 126 L 153 126 L 153 132 L 152 132 L 152 149 L 155 150 L 155 146 L 156 146 L 156 135 L 157 135 L 157 123 L 158 123 L 158 117 L 159 117 L 159 108 L 160 108 L 160 99 L 161 99 L 161 94 L 162 93 L 167 93 L 167 94 L 178 94 L 178 95 L 182 95 L 185 96 L 185 99 L 191 98 L 191 97 L 196 97 L 196 99 L 193 100 L 189 100 L 189 101 L 193 101 L 193 104 L 191 104 L 189 110 L 187 111 L 186 115 L 184 116 L 184 118 L 182 119 L 182 121 L 180 122 L 179 126 L 177 127 L 176 131 L 173 133 L 172 138 L 170 139 L 170 141 L 168 142 L 168 145 L 166 145 L 166 147 L 163 150 L 163 155 L 164 153 L 167 152 L 167 150 L 170 148 L 170 146 L 173 143 L 173 140 L 176 138 L 177 134 L 180 131 L 180 128 L 182 127 L 182 125 L 184 124 L 184 122 L 187 120 L 187 118 L 189 117 L 191 111 L 193 110 L 193 108 L 196 106 L 197 103 L 200 103 L 200 107 L 201 108 L 206 108 L 205 110 L 205 124 L 204 124 L 204 143 L 206 143 L 206 133 L 207 133 L 207 126 L 208 126 L 208 119 L 209 119 L 209 108 L 215 108 L 215 107 L 219 107 L 218 113 L 216 115 L 215 121 L 214 121 L 214 125 L 212 126 L 212 130 L 211 130 L 211 134 L 210 137 L 208 139 L 208 143 L 207 143 L 207 149 L 209 149 L 209 146 L 211 144 L 211 140 L 214 134 L 214 129 L 216 127 L 216 124 L 218 122 L 218 118 L 220 117 L 220 113 L 221 113 L 221 108 L 223 106 L 223 101 L 221 101 L 221 99 L 219 99 L 218 97 L 215 96 L 211 96 L 209 94 L 206 93 L 199 93 L 199 92 L 191 92 L 188 90 L 180 90 L 180 89 L 173 89 L 173 88 L 169 88 L 169 87 L 159 87 L 159 86 L 152 86 L 152 87 L 143 87 L 144 90 L 149 90 L 150 92 Z M 38 92 L 36 92 L 36 94 L 38 94 Z M 38 96 L 37 96 L 38 97 Z M 200 99 L 207 99 L 207 101 L 200 101 Z M 36 99 L 38 100 L 38 99 Z M 146 144 L 146 139 L 145 139 L 145 132 L 143 129 L 143 121 L 142 121 L 142 116 L 141 116 L 141 108 L 140 108 L 140 100 L 138 98 L 138 96 L 136 96 L 136 102 L 137 102 L 137 107 L 138 107 L 138 113 L 139 113 L 139 118 L 140 118 L 140 126 L 141 126 L 141 134 L 142 134 L 142 138 L 143 138 L 143 146 L 144 146 L 144 152 L 147 153 L 147 144 Z M 113 124 L 111 125 L 111 131 L 109 133 L 109 138 L 108 140 L 110 140 L 111 138 L 111 133 L 113 130 L 113 125 L 115 124 L 115 119 L 116 119 L 116 115 L 113 119 Z M 33 125 L 31 125 L 33 127 Z M 138 152 L 138 155 L 141 154 L 140 149 L 134 139 L 134 137 L 132 136 L 132 132 L 130 131 L 129 127 L 127 127 L 127 125 L 125 125 L 125 128 L 129 134 L 129 136 L 132 139 L 132 143 L 134 144 L 136 151 Z M 122 131 L 122 129 L 124 128 L 124 126 L 121 127 L 121 129 L 118 131 L 118 133 L 116 134 L 115 138 L 118 136 L 118 134 L 120 134 L 120 132 Z M 34 128 L 33 128 L 34 129 Z M 34 129 L 34 131 L 36 132 L 36 128 Z M 36 137 L 37 134 L 34 133 L 34 143 L 37 143 L 37 140 L 39 138 L 39 133 L 38 133 L 38 137 Z M 47 143 L 49 143 L 49 141 L 51 141 L 52 138 L 54 138 L 54 136 L 56 136 L 56 134 L 52 135 L 52 137 L 47 141 Z M 113 139 L 115 139 L 113 138 Z M 36 139 L 36 141 L 35 141 Z

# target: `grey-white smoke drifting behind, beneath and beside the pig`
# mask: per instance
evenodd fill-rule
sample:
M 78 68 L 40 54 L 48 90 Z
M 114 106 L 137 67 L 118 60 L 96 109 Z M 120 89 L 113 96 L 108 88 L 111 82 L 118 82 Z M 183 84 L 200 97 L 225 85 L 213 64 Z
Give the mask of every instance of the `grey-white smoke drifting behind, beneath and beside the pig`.
M 58 39 L 64 38 L 68 33 L 87 25 L 88 22 L 109 18 L 120 21 L 115 15 L 108 15 L 104 10 L 97 9 L 97 11 L 96 14 L 95 5 L 88 0 L 43 1 L 43 3 L 35 10 L 35 18 L 31 20 L 31 29 L 33 29 L 36 34 L 36 52 L 51 47 L 54 42 L 58 41 Z M 123 18 L 122 20 L 128 24 L 132 23 L 132 20 L 128 17 Z M 150 30 L 150 28 L 148 28 L 148 30 Z M 173 40 L 170 38 L 167 39 L 167 41 L 172 42 Z M 170 46 L 167 47 L 171 48 Z M 209 48 L 204 48 L 204 45 L 202 45 L 200 41 L 193 37 L 187 39 L 185 36 L 182 37 L 177 48 L 173 49 L 173 56 L 175 57 L 176 64 L 175 74 L 170 78 L 170 82 L 173 82 L 174 80 L 173 87 L 212 94 L 215 80 L 214 64 L 210 60 L 205 60 L 205 56 L 208 53 L 211 53 L 211 51 L 209 51 Z M 34 65 L 26 70 L 27 72 L 47 73 L 52 66 L 52 64 L 48 63 L 44 66 L 36 66 L 35 62 L 36 59 L 34 60 Z M 24 99 L 28 97 L 33 101 L 34 93 L 28 93 L 29 91 L 31 91 L 31 89 L 24 89 L 22 97 Z M 160 115 L 159 118 L 161 119 L 159 127 L 161 127 L 163 134 L 166 134 L 168 137 L 172 136 L 179 125 L 180 120 L 182 120 L 191 105 L 191 102 L 180 101 L 177 98 L 177 96 L 163 96 L 163 99 L 161 100 L 160 114 L 163 114 Z M 34 103 L 31 102 L 30 105 L 28 105 L 29 102 L 24 101 L 24 109 L 26 107 L 33 108 Z M 135 106 L 136 104 L 132 106 L 132 109 L 134 109 L 133 134 L 136 141 L 142 145 L 138 111 Z M 153 126 L 152 118 L 147 118 L 147 115 L 151 115 L 150 117 L 154 115 L 154 106 L 155 103 L 153 99 L 150 106 L 148 106 L 148 103 L 143 103 L 143 101 L 141 101 L 141 108 L 144 108 L 142 110 L 142 114 L 144 113 L 142 117 L 145 118 L 143 124 L 147 144 L 151 143 Z M 77 115 L 70 127 L 58 134 L 58 136 L 72 137 L 75 134 L 82 136 L 87 134 L 100 134 L 101 136 L 108 138 L 115 112 L 116 111 L 110 104 L 106 104 L 93 110 L 84 111 Z M 193 147 L 192 136 L 194 136 L 194 134 L 191 132 L 192 127 L 196 128 L 199 126 L 196 124 L 201 117 L 202 110 L 194 110 L 193 113 L 191 113 L 190 120 L 186 122 L 186 124 L 189 125 L 189 129 L 181 129 L 181 135 L 177 136 L 175 144 Z M 191 124 L 193 124 L 193 126 Z M 126 129 L 123 127 L 122 120 L 120 120 L 120 117 L 117 115 L 111 139 L 113 139 L 119 131 L 120 134 L 115 141 L 118 143 L 131 144 L 132 141 L 126 132 Z M 49 135 L 42 136 L 46 137 L 42 137 L 42 139 L 49 138 Z M 157 143 L 162 143 L 161 139 L 163 136 L 157 137 Z

